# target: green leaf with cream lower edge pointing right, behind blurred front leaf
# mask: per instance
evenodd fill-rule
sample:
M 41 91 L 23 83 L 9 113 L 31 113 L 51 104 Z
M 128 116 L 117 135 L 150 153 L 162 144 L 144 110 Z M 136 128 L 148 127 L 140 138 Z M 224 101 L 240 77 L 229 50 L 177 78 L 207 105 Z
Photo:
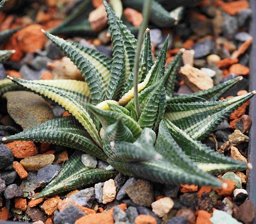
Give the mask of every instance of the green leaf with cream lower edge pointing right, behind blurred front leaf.
M 233 170 L 246 170 L 247 163 L 231 159 L 229 156 L 219 154 L 214 150 L 188 136 L 171 121 L 164 119 L 171 135 L 181 145 L 187 156 L 193 160 L 197 167 L 206 172 L 224 172 Z

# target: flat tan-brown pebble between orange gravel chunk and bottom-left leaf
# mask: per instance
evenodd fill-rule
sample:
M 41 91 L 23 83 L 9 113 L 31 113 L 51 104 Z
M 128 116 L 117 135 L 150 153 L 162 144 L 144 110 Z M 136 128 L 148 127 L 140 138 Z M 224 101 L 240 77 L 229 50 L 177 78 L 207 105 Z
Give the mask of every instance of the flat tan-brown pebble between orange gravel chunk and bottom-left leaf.
M 53 154 L 39 154 L 20 160 L 20 164 L 23 165 L 26 171 L 38 171 L 44 166 L 52 164 L 53 160 Z

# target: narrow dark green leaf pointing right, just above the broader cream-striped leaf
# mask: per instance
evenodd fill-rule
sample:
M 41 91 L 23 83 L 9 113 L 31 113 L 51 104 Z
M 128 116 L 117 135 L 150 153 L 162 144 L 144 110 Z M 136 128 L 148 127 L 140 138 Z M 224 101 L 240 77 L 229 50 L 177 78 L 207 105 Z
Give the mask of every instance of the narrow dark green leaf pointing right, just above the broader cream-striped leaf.
M 189 95 L 174 96 L 167 99 L 166 107 L 174 103 L 189 103 L 189 102 L 199 102 L 205 100 L 218 100 L 225 92 L 227 92 L 232 86 L 236 85 L 242 80 L 241 76 L 235 77 L 234 79 L 228 80 L 224 83 L 220 83 L 213 88 L 199 91 Z

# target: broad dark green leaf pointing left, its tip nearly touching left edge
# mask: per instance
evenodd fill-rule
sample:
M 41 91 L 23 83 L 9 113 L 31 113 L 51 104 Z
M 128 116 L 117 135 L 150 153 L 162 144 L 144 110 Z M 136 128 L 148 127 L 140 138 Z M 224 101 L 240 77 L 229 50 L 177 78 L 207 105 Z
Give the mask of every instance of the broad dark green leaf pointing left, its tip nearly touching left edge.
M 17 140 L 59 144 L 107 160 L 104 152 L 93 143 L 83 126 L 71 116 L 49 120 L 16 135 L 3 138 L 3 141 Z

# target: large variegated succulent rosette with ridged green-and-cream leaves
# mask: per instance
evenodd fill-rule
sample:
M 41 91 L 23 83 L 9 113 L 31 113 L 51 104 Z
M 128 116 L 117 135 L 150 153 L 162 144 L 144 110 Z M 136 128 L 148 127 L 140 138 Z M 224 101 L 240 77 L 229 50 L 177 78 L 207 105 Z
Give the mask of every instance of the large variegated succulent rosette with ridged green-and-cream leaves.
M 138 116 L 133 97 L 137 40 L 106 2 L 104 5 L 113 59 L 43 31 L 74 62 L 85 82 L 9 77 L 16 85 L 53 100 L 73 115 L 2 139 L 50 142 L 76 149 L 37 198 L 107 180 L 116 171 L 153 182 L 221 187 L 222 182 L 210 173 L 246 170 L 250 164 L 219 154 L 198 140 L 255 92 L 218 100 L 242 79 L 237 77 L 206 91 L 172 96 L 183 50 L 165 68 L 168 38 L 154 61 L 147 29 L 139 59 Z M 2 93 L 15 84 L 3 85 Z M 81 162 L 81 151 L 107 161 L 110 169 L 88 169 Z

